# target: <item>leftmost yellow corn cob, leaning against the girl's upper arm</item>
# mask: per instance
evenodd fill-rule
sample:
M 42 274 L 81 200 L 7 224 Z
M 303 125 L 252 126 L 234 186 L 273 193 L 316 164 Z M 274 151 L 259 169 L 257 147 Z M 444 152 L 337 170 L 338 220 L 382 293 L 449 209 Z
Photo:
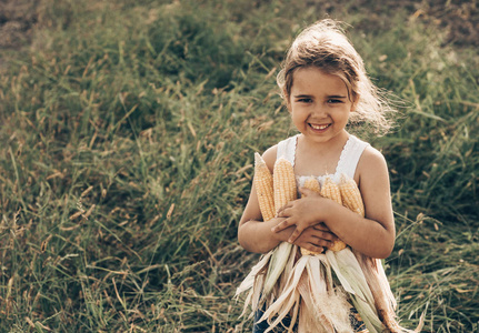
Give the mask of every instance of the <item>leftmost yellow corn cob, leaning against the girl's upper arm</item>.
M 275 194 L 272 186 L 272 174 L 259 153 L 255 153 L 255 189 L 258 195 L 259 209 L 262 220 L 275 218 Z

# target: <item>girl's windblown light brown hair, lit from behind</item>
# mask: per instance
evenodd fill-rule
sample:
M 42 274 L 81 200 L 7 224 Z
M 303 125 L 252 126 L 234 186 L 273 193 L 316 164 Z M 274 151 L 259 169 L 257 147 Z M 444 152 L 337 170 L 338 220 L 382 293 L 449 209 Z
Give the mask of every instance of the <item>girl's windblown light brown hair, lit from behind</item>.
M 349 122 L 368 122 L 375 132 L 387 132 L 391 124 L 385 113 L 393 111 L 366 73 L 362 58 L 333 20 L 327 19 L 306 28 L 292 42 L 277 77 L 285 102 L 288 103 L 295 71 L 316 67 L 339 77 L 356 102 Z

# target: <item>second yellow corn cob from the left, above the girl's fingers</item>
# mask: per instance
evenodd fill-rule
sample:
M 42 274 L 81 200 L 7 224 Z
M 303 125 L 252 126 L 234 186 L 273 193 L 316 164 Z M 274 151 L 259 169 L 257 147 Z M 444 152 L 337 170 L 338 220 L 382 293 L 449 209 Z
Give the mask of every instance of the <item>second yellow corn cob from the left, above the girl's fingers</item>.
M 291 163 L 279 158 L 275 163 L 272 173 L 275 189 L 275 211 L 278 212 L 288 202 L 296 200 L 298 196 L 296 188 L 295 170 Z

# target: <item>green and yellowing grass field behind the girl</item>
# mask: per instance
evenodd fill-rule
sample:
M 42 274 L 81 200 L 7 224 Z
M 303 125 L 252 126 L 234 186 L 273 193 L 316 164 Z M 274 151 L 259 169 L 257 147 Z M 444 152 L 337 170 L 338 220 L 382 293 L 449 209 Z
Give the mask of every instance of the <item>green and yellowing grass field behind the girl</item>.
M 327 13 L 398 104 L 388 135 L 351 131 L 389 163 L 401 322 L 478 332 L 477 48 L 416 9 L 285 2 L 38 2 L 1 52 L 0 332 L 250 332 L 253 152 L 295 133 L 276 73 Z

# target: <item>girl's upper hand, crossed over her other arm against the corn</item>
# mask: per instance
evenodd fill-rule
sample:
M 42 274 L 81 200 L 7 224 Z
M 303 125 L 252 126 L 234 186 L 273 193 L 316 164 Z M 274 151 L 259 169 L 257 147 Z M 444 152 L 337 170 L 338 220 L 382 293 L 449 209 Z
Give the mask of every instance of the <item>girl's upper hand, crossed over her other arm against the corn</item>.
M 321 202 L 326 199 L 303 188 L 300 189 L 300 193 L 301 199 L 287 203 L 278 211 L 278 218 L 286 219 L 271 229 L 272 232 L 280 232 L 291 225 L 296 225 L 293 233 L 288 240 L 290 243 L 295 243 L 305 229 L 321 222 Z

